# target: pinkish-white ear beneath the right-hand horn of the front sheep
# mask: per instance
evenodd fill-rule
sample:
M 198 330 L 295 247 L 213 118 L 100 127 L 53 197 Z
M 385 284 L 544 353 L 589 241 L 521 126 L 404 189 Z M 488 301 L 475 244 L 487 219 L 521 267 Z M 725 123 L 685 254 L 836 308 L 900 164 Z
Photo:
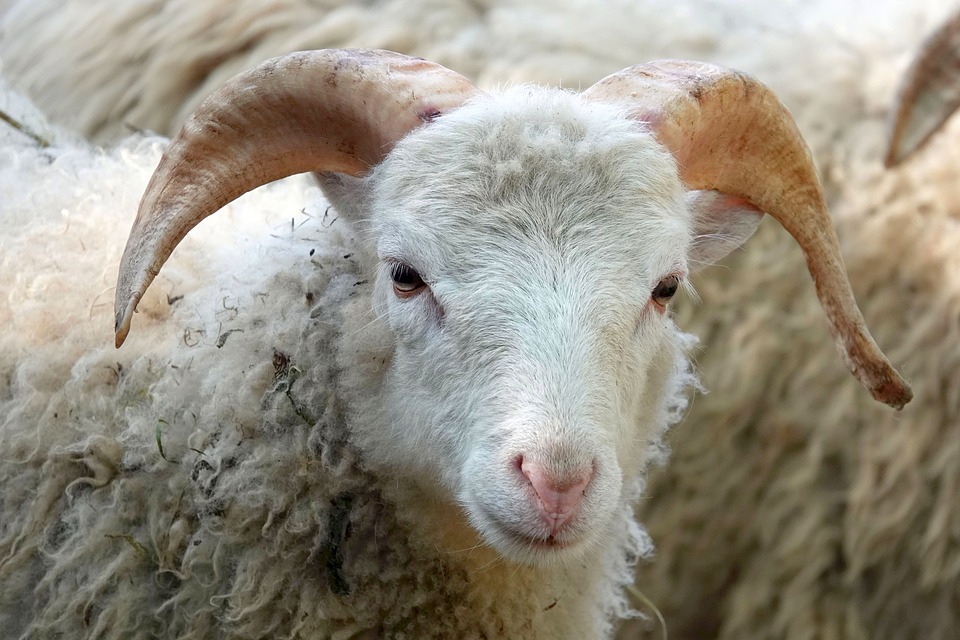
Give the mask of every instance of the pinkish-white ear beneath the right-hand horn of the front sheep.
M 763 219 L 763 212 L 743 198 L 720 191 L 688 191 L 686 200 L 694 219 L 690 271 L 709 267 L 742 247 Z

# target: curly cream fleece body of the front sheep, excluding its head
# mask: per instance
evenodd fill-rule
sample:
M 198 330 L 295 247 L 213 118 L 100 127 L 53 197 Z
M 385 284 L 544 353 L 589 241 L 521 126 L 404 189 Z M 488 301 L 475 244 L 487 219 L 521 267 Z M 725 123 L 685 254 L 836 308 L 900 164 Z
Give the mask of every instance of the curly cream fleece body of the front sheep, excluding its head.
M 371 324 L 363 247 L 308 180 L 250 194 L 188 240 L 115 352 L 103 291 L 118 212 L 161 141 L 106 153 L 4 134 L 12 637 L 604 637 L 630 614 L 622 586 L 649 552 L 630 503 L 692 383 L 672 325 L 667 400 L 631 445 L 603 543 L 555 566 L 505 563 L 358 432 L 392 340 Z

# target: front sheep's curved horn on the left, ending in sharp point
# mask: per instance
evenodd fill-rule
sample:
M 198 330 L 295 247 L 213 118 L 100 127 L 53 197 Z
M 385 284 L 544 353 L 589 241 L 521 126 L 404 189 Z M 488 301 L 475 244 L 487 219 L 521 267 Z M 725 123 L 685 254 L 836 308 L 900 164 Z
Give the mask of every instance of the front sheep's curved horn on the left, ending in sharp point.
M 205 217 L 296 173 L 362 175 L 476 93 L 449 69 L 389 51 L 303 51 L 234 77 L 190 116 L 147 185 L 120 261 L 117 346 L 143 292 Z

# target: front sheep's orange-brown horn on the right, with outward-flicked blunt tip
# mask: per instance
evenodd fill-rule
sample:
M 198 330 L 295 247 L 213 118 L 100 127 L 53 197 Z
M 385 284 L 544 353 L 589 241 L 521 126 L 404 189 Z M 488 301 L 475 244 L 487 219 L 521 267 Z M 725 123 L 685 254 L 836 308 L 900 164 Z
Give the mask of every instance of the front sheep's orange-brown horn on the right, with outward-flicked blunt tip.
M 673 153 L 687 187 L 745 198 L 776 218 L 803 250 L 854 376 L 881 402 L 901 408 L 910 401 L 910 386 L 867 331 L 810 150 L 773 91 L 725 67 L 660 60 L 608 76 L 584 95 L 626 101 Z

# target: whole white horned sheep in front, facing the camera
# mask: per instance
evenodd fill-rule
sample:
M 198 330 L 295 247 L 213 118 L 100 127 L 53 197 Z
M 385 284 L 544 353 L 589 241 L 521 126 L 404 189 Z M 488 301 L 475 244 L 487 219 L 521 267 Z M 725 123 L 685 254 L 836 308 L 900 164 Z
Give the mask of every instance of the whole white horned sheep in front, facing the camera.
M 120 155 L 149 165 L 152 144 Z M 11 183 L 60 170 L 51 153 L 7 163 Z M 150 288 L 204 217 L 304 169 L 343 235 L 293 224 L 309 242 L 270 242 L 268 260 L 187 243 L 169 297 Z M 59 319 L 34 291 L 27 319 L 51 318 L 3 342 L 4 628 L 609 636 L 648 550 L 632 503 L 694 384 L 666 308 L 760 211 L 802 247 L 854 375 L 909 401 L 853 302 L 809 151 L 750 76 L 661 61 L 580 95 L 485 94 L 355 50 L 238 76 L 146 188 L 116 287 L 123 349 L 82 320 L 102 317 L 99 293 Z M 22 327 L 18 306 L 4 313 Z

